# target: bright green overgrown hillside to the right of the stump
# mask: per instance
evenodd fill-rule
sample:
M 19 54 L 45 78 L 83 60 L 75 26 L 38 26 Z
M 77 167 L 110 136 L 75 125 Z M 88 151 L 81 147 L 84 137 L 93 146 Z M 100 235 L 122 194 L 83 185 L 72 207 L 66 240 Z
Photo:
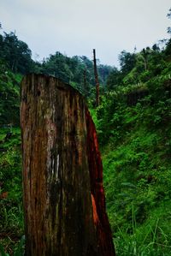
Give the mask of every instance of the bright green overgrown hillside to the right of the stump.
M 109 75 L 92 110 L 117 255 L 170 255 L 171 55 L 153 48 L 133 54 L 120 85 L 122 66 Z

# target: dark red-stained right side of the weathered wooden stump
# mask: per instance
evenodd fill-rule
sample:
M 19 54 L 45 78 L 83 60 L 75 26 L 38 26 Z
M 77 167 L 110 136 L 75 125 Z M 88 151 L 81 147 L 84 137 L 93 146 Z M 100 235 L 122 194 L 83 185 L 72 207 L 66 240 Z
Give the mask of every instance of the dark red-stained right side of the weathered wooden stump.
M 86 110 L 88 163 L 91 181 L 91 201 L 93 217 L 97 230 L 97 243 L 101 247 L 100 255 L 115 255 L 109 219 L 105 209 L 103 189 L 103 164 L 98 150 L 97 133 L 90 113 Z

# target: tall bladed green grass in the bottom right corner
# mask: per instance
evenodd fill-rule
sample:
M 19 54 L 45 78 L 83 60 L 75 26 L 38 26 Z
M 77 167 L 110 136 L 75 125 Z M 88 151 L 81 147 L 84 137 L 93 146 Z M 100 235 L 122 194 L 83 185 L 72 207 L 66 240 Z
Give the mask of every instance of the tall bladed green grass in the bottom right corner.
M 151 218 L 138 226 L 132 205 L 132 229 L 118 227 L 115 234 L 117 256 L 170 256 L 171 237 L 162 229 L 162 219 Z

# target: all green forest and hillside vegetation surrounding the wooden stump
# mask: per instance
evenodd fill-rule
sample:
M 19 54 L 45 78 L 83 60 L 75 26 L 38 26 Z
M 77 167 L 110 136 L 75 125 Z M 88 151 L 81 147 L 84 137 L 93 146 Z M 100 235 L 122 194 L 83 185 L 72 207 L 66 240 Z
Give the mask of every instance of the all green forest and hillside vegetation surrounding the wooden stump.
M 168 18 L 171 17 L 168 14 Z M 168 28 L 170 33 L 170 28 Z M 0 252 L 23 255 L 20 82 L 50 74 L 78 89 L 96 124 L 117 255 L 171 255 L 171 39 L 133 53 L 121 68 L 56 52 L 38 63 L 15 33 L 0 34 Z M 9 254 L 8 254 L 9 253 Z

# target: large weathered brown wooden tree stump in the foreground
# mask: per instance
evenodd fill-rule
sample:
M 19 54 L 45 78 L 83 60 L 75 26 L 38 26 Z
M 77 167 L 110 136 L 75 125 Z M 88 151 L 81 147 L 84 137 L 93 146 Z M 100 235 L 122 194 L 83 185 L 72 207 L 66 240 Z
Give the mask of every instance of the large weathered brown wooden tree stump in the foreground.
M 27 75 L 21 87 L 27 256 L 114 256 L 84 98 L 44 75 Z

